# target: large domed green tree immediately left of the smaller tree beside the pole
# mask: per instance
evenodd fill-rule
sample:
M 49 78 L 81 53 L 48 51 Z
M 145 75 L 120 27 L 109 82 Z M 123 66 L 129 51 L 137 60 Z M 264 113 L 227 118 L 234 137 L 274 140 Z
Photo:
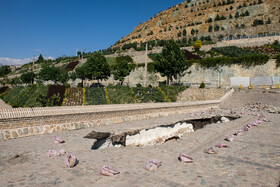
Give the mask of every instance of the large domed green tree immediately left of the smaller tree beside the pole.
M 107 80 L 111 75 L 110 66 L 101 52 L 94 52 L 85 63 L 86 77 L 90 80 Z

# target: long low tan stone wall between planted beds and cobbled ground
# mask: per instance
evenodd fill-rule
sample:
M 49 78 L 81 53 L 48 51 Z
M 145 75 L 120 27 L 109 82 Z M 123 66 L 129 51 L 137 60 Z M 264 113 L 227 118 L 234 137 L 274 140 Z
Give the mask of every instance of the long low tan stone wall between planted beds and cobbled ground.
M 0 141 L 208 110 L 217 108 L 232 93 L 230 90 L 219 100 L 186 103 L 3 109 Z

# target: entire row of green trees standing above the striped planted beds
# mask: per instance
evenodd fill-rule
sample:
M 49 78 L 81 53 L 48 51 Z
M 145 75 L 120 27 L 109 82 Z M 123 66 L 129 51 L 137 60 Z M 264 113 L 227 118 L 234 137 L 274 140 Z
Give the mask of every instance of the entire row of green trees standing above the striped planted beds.
M 190 67 L 183 52 L 180 50 L 179 44 L 174 40 L 169 40 L 163 47 L 162 53 L 157 54 L 154 70 L 162 76 L 167 77 L 167 83 L 183 76 L 185 70 Z M 42 66 L 39 73 L 33 71 L 23 73 L 21 77 L 12 79 L 11 84 L 17 85 L 21 83 L 33 84 L 34 81 L 53 81 L 55 84 L 66 84 L 69 79 L 81 79 L 81 85 L 84 80 L 107 80 L 113 74 L 115 80 L 119 80 L 122 84 L 125 77 L 136 67 L 128 58 L 120 58 L 115 64 L 109 65 L 102 52 L 94 52 L 87 61 L 68 73 L 67 71 L 55 67 L 53 65 Z

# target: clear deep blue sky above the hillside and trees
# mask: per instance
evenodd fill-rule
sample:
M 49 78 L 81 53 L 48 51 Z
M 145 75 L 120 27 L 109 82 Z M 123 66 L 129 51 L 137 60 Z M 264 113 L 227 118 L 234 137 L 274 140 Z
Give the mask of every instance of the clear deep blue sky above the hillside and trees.
M 108 48 L 183 0 L 0 0 L 0 63 Z

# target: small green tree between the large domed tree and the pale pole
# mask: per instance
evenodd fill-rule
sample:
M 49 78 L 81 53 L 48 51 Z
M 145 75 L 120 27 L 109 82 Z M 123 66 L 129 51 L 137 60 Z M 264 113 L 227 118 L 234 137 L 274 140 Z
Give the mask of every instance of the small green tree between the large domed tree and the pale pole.
M 129 63 L 126 60 L 117 62 L 115 65 L 112 66 L 112 73 L 114 75 L 114 79 L 119 80 L 121 82 L 121 85 L 123 84 L 125 77 L 130 74 L 131 70 L 132 68 L 131 66 L 129 66 Z

